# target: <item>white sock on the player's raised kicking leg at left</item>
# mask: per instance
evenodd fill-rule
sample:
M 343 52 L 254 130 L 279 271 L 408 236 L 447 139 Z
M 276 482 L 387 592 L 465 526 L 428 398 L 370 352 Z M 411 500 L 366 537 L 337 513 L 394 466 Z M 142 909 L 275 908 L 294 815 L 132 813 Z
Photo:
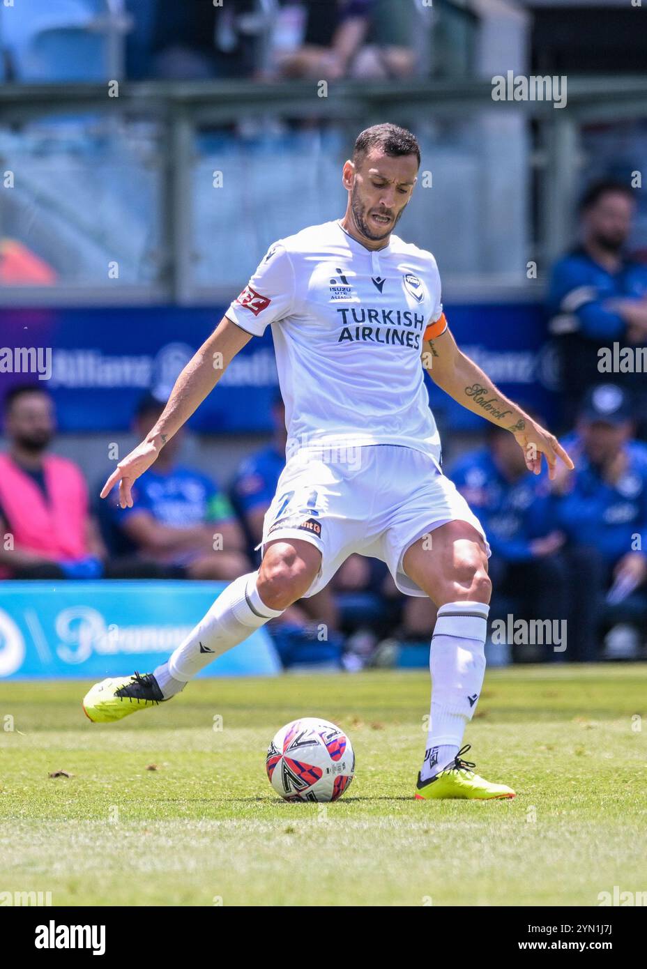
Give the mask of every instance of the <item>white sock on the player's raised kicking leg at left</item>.
M 234 578 L 186 640 L 170 654 L 168 663 L 154 672 L 165 700 L 184 689 L 207 664 L 284 611 L 269 609 L 262 602 L 256 587 L 258 575 L 257 571 Z

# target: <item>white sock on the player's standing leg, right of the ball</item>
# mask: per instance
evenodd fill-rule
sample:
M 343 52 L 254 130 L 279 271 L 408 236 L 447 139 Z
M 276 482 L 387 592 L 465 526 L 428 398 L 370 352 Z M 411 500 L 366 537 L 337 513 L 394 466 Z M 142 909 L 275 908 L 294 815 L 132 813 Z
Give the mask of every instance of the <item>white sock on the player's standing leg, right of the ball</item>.
M 431 712 L 422 780 L 454 759 L 474 716 L 485 673 L 485 635 L 490 607 L 447 603 L 438 610 L 431 640 Z

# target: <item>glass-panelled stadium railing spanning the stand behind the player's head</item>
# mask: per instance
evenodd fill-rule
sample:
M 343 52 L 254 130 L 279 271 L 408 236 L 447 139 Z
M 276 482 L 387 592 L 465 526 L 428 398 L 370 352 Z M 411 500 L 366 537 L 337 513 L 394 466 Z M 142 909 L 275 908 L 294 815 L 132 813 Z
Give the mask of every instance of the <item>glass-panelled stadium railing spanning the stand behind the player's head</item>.
M 273 239 L 337 216 L 354 137 L 385 118 L 419 137 L 401 229 L 435 251 L 446 294 L 538 296 L 529 264 L 540 284 L 601 159 L 631 171 L 646 95 L 645 78 L 570 78 L 562 109 L 495 102 L 488 81 L 7 84 L 0 233 L 17 269 L 0 300 L 229 301 Z

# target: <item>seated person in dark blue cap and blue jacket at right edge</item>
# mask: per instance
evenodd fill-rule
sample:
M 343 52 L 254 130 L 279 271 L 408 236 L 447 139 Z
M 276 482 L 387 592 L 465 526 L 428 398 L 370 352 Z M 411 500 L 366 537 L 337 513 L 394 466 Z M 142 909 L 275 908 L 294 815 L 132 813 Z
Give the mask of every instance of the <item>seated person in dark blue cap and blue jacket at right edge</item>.
M 560 476 L 557 523 L 587 560 L 586 609 L 604 627 L 647 627 L 647 449 L 632 440 L 629 394 L 618 385 L 588 392 Z M 606 596 L 606 603 L 604 599 Z M 636 637 L 637 642 L 637 637 Z

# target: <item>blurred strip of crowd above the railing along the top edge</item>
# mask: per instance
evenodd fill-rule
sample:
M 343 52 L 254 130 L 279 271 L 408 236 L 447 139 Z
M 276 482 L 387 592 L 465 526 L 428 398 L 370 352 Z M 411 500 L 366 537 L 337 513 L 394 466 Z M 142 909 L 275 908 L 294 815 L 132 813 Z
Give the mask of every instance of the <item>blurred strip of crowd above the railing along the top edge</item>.
M 495 47 L 494 36 L 480 34 L 481 21 L 503 16 L 505 29 L 514 32 L 531 12 L 541 73 L 608 72 L 611 60 L 614 72 L 628 74 L 644 69 L 641 28 L 628 10 L 638 6 L 624 0 L 10 0 L 1 23 L 3 69 L 7 80 L 46 82 L 468 77 L 478 47 Z M 575 43 L 582 38 L 586 43 Z

